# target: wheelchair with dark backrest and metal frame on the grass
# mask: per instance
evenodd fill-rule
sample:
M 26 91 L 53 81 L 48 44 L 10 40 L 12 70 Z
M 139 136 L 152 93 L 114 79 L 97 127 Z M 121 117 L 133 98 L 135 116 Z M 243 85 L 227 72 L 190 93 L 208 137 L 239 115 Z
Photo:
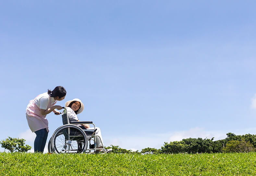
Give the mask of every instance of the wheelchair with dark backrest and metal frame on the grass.
M 69 123 L 67 109 L 62 114 L 63 126 L 57 128 L 48 142 L 49 153 L 95 153 L 97 150 L 106 152 L 103 148 L 97 148 L 96 127 L 92 121 L 71 121 Z M 85 129 L 75 124 L 92 124 L 94 129 Z M 83 129 L 84 128 L 84 129 Z M 102 140 L 100 139 L 103 144 Z M 88 148 L 89 146 L 89 148 Z

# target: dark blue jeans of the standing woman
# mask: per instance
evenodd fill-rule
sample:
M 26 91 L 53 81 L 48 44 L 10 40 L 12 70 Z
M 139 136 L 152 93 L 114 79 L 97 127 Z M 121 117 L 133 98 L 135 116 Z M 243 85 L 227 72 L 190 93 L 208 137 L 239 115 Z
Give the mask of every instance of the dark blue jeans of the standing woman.
M 36 139 L 34 141 L 34 150 L 35 152 L 41 152 L 43 153 L 45 144 L 46 144 L 46 140 L 48 137 L 48 132 L 46 130 L 46 128 L 44 129 L 39 129 L 37 131 L 35 131 L 36 133 Z

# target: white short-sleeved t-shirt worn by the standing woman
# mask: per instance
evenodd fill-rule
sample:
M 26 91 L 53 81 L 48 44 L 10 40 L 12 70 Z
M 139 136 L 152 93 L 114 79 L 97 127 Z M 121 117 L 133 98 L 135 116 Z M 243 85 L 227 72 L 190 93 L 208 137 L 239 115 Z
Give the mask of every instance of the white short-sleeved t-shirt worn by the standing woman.
M 40 94 L 35 98 L 35 104 L 39 109 L 47 109 L 49 102 L 53 105 L 56 103 L 56 100 L 53 97 L 50 97 L 47 92 Z

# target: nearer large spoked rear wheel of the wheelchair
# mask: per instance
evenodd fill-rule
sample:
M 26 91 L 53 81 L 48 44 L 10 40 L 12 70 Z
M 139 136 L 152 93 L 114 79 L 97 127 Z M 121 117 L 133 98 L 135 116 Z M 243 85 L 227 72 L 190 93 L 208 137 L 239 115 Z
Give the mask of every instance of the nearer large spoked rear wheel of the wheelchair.
M 87 135 L 76 125 L 59 127 L 51 139 L 51 148 L 55 153 L 82 153 L 87 146 Z

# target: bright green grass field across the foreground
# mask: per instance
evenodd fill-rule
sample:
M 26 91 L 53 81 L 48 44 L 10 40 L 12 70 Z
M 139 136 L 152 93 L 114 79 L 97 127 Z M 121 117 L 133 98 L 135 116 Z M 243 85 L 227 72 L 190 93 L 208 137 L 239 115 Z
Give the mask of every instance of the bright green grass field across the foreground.
M 40 154 L 0 153 L 1 176 L 254 176 L 256 153 Z

